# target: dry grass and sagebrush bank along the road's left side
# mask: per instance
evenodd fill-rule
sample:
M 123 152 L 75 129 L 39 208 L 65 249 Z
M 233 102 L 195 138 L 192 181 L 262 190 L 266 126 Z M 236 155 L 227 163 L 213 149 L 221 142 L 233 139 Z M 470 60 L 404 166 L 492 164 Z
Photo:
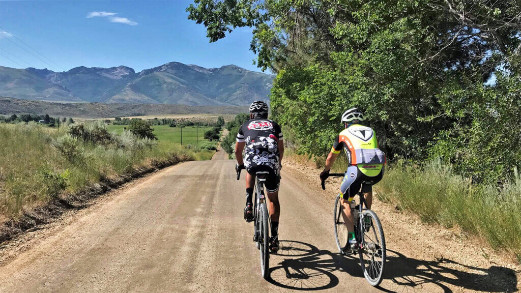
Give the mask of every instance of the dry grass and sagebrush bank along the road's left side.
M 0 124 L 0 217 L 17 217 L 23 209 L 61 192 L 75 192 L 134 168 L 168 161 L 208 160 L 213 154 L 132 136 L 122 136 L 118 143 L 98 145 L 78 141 L 67 131 L 67 126 L 56 129 L 34 123 Z

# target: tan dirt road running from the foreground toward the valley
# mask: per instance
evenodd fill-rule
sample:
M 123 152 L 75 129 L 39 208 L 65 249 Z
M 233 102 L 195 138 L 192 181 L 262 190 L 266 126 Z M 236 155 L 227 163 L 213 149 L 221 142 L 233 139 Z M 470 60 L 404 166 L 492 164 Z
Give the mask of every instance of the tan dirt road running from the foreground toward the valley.
M 67 225 L 40 231 L 42 239 L 0 267 L 0 292 L 515 290 L 516 274 L 507 268 L 454 270 L 443 260 L 408 257 L 423 248 L 393 240 L 382 288 L 369 286 L 357 260 L 336 253 L 332 202 L 286 169 L 282 255 L 272 255 L 267 282 L 233 165 L 220 151 L 212 161 L 166 168 L 70 215 Z M 476 283 L 494 270 L 510 278 Z

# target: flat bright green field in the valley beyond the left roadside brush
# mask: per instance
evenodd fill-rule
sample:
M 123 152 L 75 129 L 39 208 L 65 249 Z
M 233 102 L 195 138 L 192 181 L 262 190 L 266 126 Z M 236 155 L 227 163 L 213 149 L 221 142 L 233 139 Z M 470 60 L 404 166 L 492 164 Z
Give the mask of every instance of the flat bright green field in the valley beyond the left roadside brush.
M 107 125 L 107 129 L 110 132 L 115 132 L 117 134 L 123 133 L 123 128 L 127 127 L 126 125 Z M 181 143 L 181 128 L 179 127 L 169 127 L 168 125 L 156 125 L 153 126 L 154 134 L 157 136 L 159 141 L 166 142 L 175 142 Z M 195 144 L 195 142 L 208 141 L 204 139 L 204 131 L 208 131 L 212 129 L 211 127 L 183 127 L 183 144 Z M 212 143 L 217 143 L 215 140 Z

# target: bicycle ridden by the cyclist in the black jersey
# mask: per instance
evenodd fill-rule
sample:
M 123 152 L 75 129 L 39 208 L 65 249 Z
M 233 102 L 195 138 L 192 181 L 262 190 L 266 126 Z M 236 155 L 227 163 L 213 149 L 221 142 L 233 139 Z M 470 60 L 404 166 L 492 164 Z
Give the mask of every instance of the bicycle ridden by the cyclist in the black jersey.
M 257 249 L 261 251 L 261 274 L 263 278 L 269 278 L 269 231 L 271 220 L 264 195 L 264 182 L 269 172 L 259 171 L 255 173 L 255 201 L 253 206 L 254 234 L 253 241 L 257 243 Z M 237 171 L 237 180 L 241 177 L 241 169 Z

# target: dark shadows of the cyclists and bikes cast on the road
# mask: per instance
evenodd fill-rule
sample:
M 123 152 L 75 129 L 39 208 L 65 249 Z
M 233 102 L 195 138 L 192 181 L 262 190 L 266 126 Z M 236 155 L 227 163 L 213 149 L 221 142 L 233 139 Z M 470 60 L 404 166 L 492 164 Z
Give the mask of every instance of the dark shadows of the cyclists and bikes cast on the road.
M 282 256 L 283 261 L 271 264 L 270 268 L 269 282 L 276 286 L 303 291 L 323 290 L 342 282 L 344 275 L 341 273 L 348 274 L 345 278 L 364 278 L 357 255 L 344 256 L 292 240 L 280 241 L 280 247 L 277 255 Z M 422 290 L 425 286 L 437 286 L 440 291 L 452 292 L 449 285 L 489 292 L 517 291 L 517 277 L 510 268 L 491 266 L 485 269 L 450 259 L 417 260 L 392 250 L 387 250 L 387 255 L 384 281 L 379 287 L 382 291 Z

